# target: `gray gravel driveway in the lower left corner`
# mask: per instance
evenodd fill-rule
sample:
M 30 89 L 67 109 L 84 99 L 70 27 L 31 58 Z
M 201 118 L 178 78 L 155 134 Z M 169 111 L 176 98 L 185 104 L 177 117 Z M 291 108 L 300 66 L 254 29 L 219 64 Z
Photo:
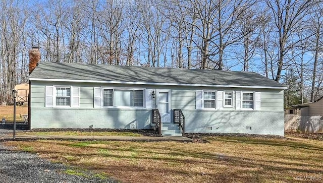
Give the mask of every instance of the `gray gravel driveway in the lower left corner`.
M 12 130 L 0 129 L 0 181 L 1 182 L 114 182 L 96 177 L 62 173 L 64 164 L 51 163 L 36 154 L 12 151 L 1 143 L 1 137 Z

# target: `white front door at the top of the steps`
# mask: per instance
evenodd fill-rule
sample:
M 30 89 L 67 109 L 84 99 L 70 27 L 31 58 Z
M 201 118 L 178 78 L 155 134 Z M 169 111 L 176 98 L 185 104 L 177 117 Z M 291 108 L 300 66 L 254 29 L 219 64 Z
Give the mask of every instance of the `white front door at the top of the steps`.
M 170 123 L 172 120 L 171 90 L 157 90 L 156 104 L 161 116 L 161 122 Z

